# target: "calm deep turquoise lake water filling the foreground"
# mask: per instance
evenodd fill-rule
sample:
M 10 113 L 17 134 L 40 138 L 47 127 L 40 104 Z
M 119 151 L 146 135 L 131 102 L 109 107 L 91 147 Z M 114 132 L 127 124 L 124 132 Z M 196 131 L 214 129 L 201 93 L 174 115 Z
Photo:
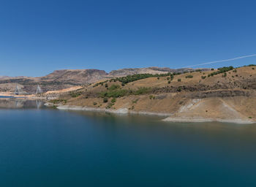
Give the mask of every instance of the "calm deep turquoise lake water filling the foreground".
M 0 186 L 256 186 L 256 124 L 22 104 L 0 109 Z

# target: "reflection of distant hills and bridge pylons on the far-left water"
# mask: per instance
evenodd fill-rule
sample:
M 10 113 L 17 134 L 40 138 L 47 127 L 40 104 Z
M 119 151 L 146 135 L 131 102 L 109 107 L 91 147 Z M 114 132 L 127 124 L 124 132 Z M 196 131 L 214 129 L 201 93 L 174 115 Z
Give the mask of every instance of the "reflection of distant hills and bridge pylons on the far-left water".
M 42 108 L 44 102 L 42 100 L 27 100 L 27 99 L 17 99 L 17 98 L 0 98 L 0 108 L 1 109 L 18 109 L 18 108 Z

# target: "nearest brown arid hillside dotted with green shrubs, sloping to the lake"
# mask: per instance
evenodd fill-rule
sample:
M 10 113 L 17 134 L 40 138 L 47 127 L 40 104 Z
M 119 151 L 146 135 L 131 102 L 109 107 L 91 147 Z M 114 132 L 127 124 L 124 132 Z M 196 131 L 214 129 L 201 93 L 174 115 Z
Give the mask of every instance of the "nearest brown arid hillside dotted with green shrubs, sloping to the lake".
M 156 112 L 166 121 L 256 121 L 256 66 L 127 76 L 72 91 L 53 104 L 116 112 Z

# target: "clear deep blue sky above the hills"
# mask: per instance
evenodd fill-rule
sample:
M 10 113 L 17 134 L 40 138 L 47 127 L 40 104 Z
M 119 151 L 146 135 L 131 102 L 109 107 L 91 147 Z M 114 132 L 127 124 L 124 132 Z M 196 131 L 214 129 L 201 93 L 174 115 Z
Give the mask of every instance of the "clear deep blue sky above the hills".
M 243 0 L 0 0 L 0 75 L 179 68 L 254 54 L 255 7 Z

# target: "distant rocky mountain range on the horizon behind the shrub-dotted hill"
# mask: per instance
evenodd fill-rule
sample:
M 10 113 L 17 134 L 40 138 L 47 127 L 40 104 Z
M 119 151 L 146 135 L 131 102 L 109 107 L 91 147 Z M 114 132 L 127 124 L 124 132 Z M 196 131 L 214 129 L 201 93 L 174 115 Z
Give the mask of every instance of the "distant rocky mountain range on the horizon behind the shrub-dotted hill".
M 12 92 L 16 85 L 27 93 L 34 93 L 37 84 L 43 91 L 59 90 L 74 85 L 86 85 L 113 77 L 124 77 L 135 74 L 164 74 L 167 72 L 193 71 L 192 68 L 170 69 L 167 67 L 127 68 L 113 70 L 110 73 L 99 69 L 62 69 L 43 77 L 7 77 L 0 76 L 0 91 Z M 209 69 L 202 69 L 206 71 Z

